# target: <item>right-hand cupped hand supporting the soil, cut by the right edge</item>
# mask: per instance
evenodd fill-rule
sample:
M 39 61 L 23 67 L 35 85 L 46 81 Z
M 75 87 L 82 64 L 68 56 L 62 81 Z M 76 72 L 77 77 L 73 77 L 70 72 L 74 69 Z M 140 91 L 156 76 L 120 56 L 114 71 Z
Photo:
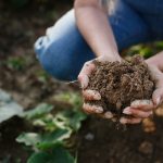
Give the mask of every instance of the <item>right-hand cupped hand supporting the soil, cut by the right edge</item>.
M 120 122 L 122 124 L 138 124 L 143 118 L 153 114 L 155 108 L 163 102 L 163 73 L 153 65 L 149 65 L 151 78 L 155 84 L 155 90 L 153 91 L 151 100 L 136 100 L 130 106 L 124 109 L 123 113 L 130 115 L 130 118 L 122 117 Z

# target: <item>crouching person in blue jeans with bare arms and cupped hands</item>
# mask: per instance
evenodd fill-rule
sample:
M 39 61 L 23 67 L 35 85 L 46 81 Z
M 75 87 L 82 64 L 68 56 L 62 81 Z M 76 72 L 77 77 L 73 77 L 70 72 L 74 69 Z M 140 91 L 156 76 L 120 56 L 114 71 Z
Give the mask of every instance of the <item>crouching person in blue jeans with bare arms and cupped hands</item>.
M 62 16 L 47 35 L 35 43 L 37 58 L 43 68 L 62 80 L 78 80 L 87 101 L 100 100 L 95 90 L 87 90 L 93 59 L 122 61 L 120 52 L 133 45 L 163 39 L 162 0 L 75 0 L 74 9 Z M 123 113 L 123 124 L 137 124 L 152 115 L 163 101 L 163 52 L 146 60 L 155 82 L 152 100 L 136 100 Z M 83 66 L 84 65 L 84 66 Z M 84 103 L 84 111 L 104 118 L 114 118 L 101 106 Z

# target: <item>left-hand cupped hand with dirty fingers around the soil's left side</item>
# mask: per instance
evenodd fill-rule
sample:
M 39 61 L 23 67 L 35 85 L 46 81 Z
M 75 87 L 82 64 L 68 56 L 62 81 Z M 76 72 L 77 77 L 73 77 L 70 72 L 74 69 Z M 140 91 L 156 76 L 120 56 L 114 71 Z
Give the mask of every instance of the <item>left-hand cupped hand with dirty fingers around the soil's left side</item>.
M 105 55 L 101 55 L 99 58 L 97 58 L 96 60 L 100 61 L 100 62 L 114 62 L 114 61 L 120 61 L 121 62 L 121 57 L 120 58 L 108 58 Z M 93 60 L 92 61 L 88 61 L 84 64 L 79 75 L 78 75 L 78 82 L 82 85 L 83 88 L 83 97 L 86 101 L 95 101 L 95 100 L 100 100 L 101 99 L 101 95 L 100 92 L 96 91 L 96 90 L 90 90 L 87 89 L 88 83 L 89 83 L 89 76 L 91 74 L 91 72 L 96 68 L 96 65 L 93 64 Z M 89 102 L 84 103 L 83 105 L 83 110 L 88 113 L 88 114 L 97 114 L 103 118 L 113 118 L 113 114 L 111 112 L 104 112 L 103 113 L 103 108 L 99 106 L 99 105 L 90 105 Z

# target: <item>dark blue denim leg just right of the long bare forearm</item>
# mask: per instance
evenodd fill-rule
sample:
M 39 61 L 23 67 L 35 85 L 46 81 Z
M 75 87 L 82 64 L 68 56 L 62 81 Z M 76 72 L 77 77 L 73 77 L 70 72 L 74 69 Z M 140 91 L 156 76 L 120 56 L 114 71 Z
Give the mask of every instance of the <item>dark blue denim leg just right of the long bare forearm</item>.
M 128 3 L 116 0 L 109 15 L 118 50 L 152 40 L 151 30 L 142 17 Z

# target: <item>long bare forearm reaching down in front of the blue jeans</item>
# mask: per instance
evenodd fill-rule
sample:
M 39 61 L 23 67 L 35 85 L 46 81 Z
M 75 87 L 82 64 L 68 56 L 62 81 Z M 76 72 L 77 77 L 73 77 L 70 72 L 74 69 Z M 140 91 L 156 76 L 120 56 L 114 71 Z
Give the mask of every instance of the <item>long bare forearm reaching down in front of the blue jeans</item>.
M 100 5 L 75 5 L 77 26 L 97 57 L 106 55 L 120 60 L 117 46 L 108 21 L 106 13 Z

